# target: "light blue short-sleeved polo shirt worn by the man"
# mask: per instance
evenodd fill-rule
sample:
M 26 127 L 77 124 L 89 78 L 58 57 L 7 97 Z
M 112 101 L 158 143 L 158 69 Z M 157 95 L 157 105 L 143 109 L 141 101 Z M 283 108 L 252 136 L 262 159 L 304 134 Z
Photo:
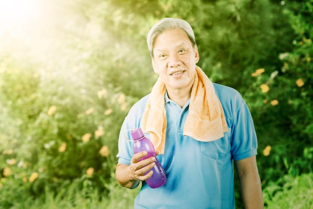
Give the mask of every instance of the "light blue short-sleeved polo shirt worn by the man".
M 224 110 L 228 131 L 224 137 L 211 142 L 183 136 L 189 101 L 181 108 L 165 93 L 165 151 L 157 155 L 157 159 L 165 170 L 167 182 L 152 189 L 142 181 L 134 209 L 234 208 L 232 161 L 256 155 L 256 134 L 240 94 L 230 87 L 213 85 Z M 119 163 L 130 164 L 132 142 L 125 140 L 124 133 L 130 139 L 126 130 L 140 127 L 148 97 L 133 105 L 122 124 L 118 140 Z

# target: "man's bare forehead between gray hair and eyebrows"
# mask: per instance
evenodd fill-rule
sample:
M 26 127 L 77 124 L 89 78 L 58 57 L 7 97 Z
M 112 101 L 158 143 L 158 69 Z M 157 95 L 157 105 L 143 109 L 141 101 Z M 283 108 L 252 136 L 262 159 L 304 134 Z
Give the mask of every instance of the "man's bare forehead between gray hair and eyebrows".
M 154 42 L 154 49 L 175 47 L 180 45 L 190 45 L 191 42 L 187 34 L 181 29 L 165 31 L 158 35 Z

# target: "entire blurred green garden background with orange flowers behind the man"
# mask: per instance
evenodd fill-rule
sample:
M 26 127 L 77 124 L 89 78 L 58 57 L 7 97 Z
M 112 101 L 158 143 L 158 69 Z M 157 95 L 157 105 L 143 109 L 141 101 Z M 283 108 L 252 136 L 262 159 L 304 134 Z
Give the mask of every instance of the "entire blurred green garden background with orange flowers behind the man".
M 157 79 L 145 38 L 164 17 L 245 99 L 265 208 L 313 208 L 313 0 L 23 2 L 0 3 L 0 208 L 133 208 L 117 139 Z

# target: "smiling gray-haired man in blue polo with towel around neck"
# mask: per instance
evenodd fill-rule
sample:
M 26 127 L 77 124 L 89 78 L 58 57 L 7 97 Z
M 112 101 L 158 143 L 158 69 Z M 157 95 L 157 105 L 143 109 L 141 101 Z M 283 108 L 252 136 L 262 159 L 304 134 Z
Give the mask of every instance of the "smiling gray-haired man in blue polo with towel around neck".
M 118 183 L 135 188 L 142 182 L 134 208 L 234 208 L 233 162 L 245 208 L 263 208 L 256 135 L 240 94 L 212 83 L 196 66 L 197 45 L 184 20 L 159 21 L 147 45 L 159 78 L 129 111 L 118 141 Z M 140 160 L 147 153 L 134 154 L 124 139 L 137 127 L 148 134 L 164 168 L 167 182 L 159 188 L 145 182 L 155 158 Z

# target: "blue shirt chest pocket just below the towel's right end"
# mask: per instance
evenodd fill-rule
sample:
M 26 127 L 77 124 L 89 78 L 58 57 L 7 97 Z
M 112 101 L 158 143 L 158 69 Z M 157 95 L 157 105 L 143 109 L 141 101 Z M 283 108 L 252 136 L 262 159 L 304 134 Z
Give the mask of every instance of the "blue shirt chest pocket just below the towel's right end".
M 224 137 L 217 139 L 215 141 L 200 142 L 201 153 L 207 155 L 210 158 L 215 160 L 222 159 L 227 155 L 230 155 L 230 132 L 231 129 L 228 129 L 224 133 Z

